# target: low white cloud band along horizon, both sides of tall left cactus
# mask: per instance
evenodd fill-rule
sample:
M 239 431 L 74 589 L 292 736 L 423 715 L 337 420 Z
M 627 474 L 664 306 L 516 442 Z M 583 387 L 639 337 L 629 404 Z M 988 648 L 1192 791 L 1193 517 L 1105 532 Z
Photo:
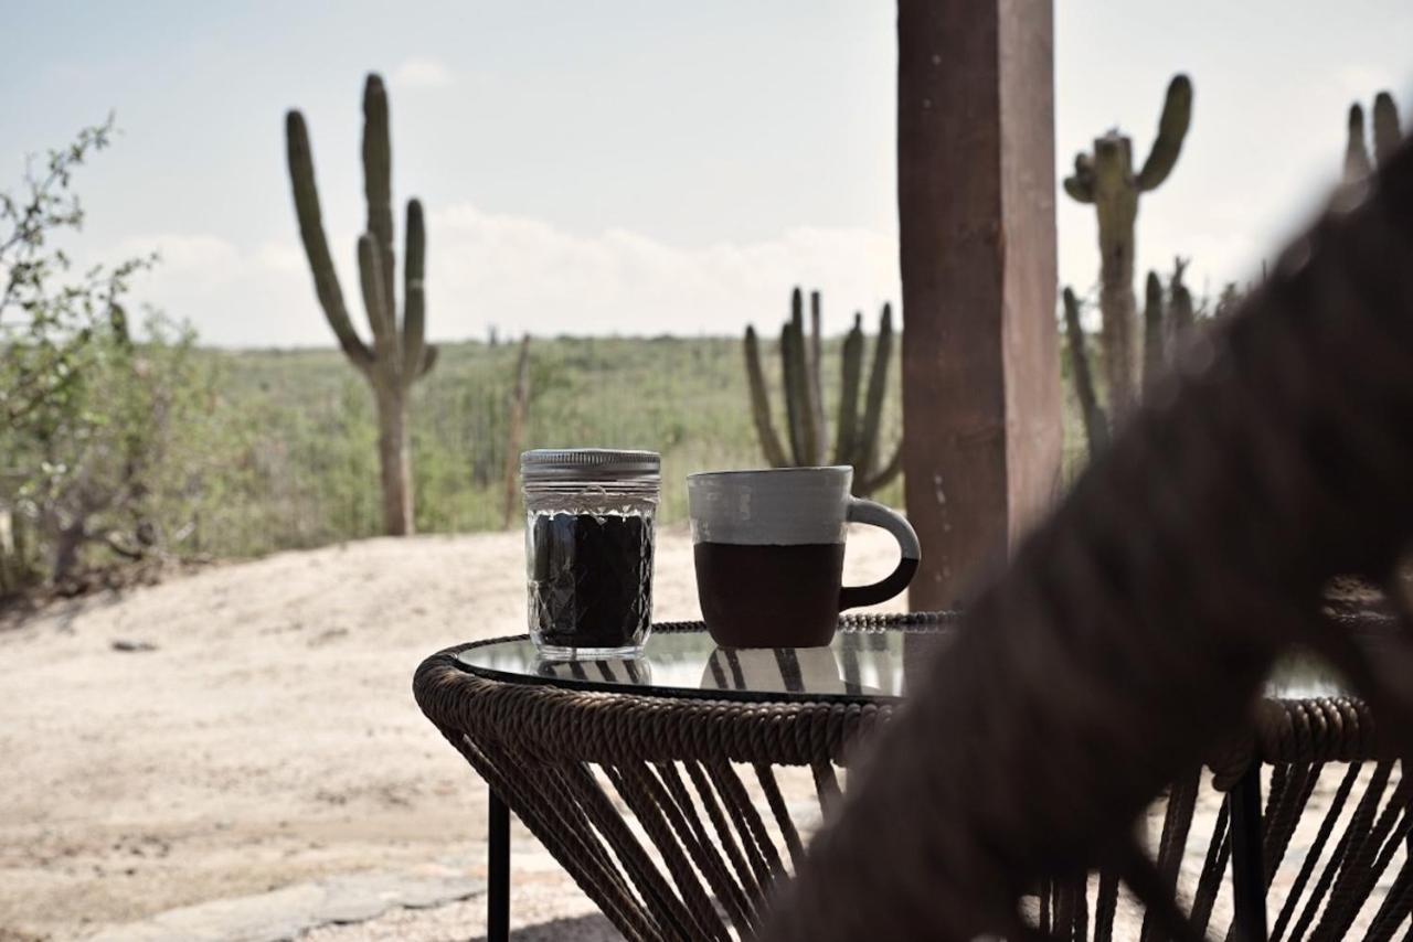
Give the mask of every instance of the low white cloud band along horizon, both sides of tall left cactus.
M 471 203 L 428 217 L 428 330 L 435 339 L 552 333 L 735 335 L 746 323 L 774 333 L 790 290 L 818 288 L 825 329 L 855 311 L 872 322 L 899 299 L 896 239 L 865 229 L 798 227 L 773 239 L 678 247 L 643 233 L 572 233 L 540 219 L 486 213 Z M 353 233 L 331 233 L 343 298 L 363 323 Z M 157 249 L 162 263 L 136 287 L 205 343 L 331 346 L 298 242 L 242 249 L 213 234 L 154 234 L 100 254 Z

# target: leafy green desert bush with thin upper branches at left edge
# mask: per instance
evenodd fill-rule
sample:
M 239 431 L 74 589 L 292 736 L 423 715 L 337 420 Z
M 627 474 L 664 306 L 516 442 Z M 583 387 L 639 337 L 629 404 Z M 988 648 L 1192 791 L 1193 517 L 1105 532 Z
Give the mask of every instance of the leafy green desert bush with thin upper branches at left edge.
M 73 174 L 112 131 L 85 129 L 0 193 L 0 592 L 68 578 L 90 545 L 140 558 L 189 532 L 174 497 L 211 394 L 194 336 L 153 315 L 134 338 L 122 301 L 154 258 L 75 270 L 59 247 L 83 222 Z

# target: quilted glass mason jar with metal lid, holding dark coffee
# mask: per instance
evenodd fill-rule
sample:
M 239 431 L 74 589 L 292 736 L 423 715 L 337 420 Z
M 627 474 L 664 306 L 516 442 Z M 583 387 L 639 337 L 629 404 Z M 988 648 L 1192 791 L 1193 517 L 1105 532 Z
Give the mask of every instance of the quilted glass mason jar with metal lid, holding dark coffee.
M 656 452 L 520 456 L 530 637 L 551 660 L 636 657 L 653 619 Z

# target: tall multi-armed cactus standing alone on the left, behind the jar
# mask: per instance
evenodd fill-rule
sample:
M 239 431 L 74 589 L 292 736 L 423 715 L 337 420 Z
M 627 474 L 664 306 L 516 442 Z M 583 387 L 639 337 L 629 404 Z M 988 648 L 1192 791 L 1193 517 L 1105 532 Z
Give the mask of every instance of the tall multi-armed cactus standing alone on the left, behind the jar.
M 403 260 L 403 316 L 397 315 L 397 270 L 393 257 L 393 147 L 389 133 L 387 92 L 383 79 L 370 73 L 363 85 L 363 192 L 367 223 L 357 240 L 359 288 L 372 329 L 372 347 L 363 342 L 343 304 L 343 290 L 324 236 L 319 192 L 314 182 L 314 155 L 304 116 L 284 117 L 290 184 L 300 237 L 314 274 L 314 291 L 324 316 L 349 362 L 373 388 L 377 405 L 377 459 L 383 482 L 383 528 L 406 535 L 413 524 L 413 473 L 408 448 L 407 401 L 413 383 L 437 363 L 437 347 L 427 343 L 427 297 L 422 285 L 427 230 L 422 205 L 407 202 L 406 258 Z

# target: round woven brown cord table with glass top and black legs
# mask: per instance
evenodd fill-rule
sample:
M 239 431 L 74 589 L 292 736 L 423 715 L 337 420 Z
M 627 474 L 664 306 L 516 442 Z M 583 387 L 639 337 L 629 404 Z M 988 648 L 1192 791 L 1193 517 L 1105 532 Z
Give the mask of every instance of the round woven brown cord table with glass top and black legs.
M 856 747 L 954 620 L 841 624 L 829 648 L 725 651 L 699 624 L 663 624 L 637 661 L 544 662 L 524 636 L 424 661 L 418 703 L 490 787 L 487 938 L 509 935 L 509 811 L 626 938 L 749 936 L 836 806 Z M 1211 784 L 1194 773 L 1150 815 L 1159 871 L 1201 931 L 1226 921 L 1235 938 L 1266 938 L 1267 891 L 1286 897 L 1277 935 L 1299 929 L 1286 938 L 1405 918 L 1413 819 L 1396 764 L 1361 764 L 1378 757 L 1366 710 L 1318 668 L 1275 692 L 1211 763 Z M 1327 764 L 1342 771 L 1323 777 Z M 1190 833 L 1211 839 L 1194 849 Z M 1294 873 L 1277 880 L 1283 861 Z M 1396 863 L 1389 893 L 1378 877 Z M 1376 895 L 1388 905 L 1365 912 Z M 1058 938 L 1150 934 L 1102 873 L 1037 887 L 1031 918 Z

